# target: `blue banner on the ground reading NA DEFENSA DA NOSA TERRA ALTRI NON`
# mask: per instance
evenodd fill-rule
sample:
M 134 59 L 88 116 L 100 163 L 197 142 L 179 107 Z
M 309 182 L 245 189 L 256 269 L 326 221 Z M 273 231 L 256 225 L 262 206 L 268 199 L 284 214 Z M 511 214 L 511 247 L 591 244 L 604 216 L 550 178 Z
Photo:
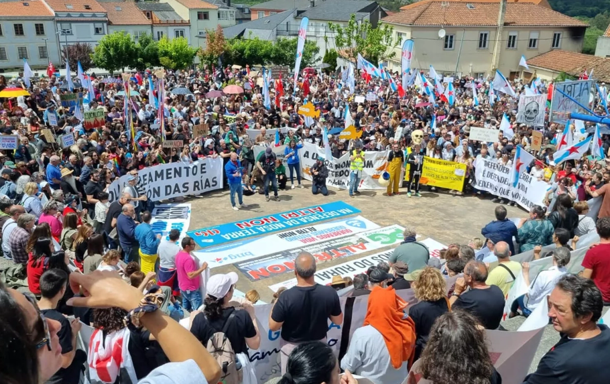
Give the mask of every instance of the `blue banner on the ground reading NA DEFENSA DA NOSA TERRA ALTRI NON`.
M 205 248 L 357 213 L 360 213 L 360 210 L 350 204 L 334 201 L 294 211 L 196 229 L 188 232 L 188 236 L 192 237 L 201 248 Z

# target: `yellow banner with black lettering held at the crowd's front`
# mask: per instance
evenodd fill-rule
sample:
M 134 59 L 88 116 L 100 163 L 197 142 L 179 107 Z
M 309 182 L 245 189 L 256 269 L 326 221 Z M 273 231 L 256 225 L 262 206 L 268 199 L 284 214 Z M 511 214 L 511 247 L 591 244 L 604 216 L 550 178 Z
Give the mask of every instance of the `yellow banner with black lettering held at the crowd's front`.
M 461 191 L 464 187 L 466 164 L 424 157 L 420 184 Z M 409 174 L 405 175 L 409 180 Z

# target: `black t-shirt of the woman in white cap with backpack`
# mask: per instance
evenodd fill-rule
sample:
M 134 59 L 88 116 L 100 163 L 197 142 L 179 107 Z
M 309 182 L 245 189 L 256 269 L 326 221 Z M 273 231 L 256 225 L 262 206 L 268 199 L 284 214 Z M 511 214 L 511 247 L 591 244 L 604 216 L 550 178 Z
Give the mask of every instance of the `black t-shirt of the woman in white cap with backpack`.
M 235 313 L 234 318 L 231 320 L 231 324 L 225 333 L 231 346 L 236 354 L 248 353 L 248 346 L 246 345 L 246 338 L 256 336 L 256 329 L 252 318 L 245 310 L 236 310 L 234 307 L 228 307 L 223 310 L 223 315 L 220 319 L 208 321 L 206 315 L 198 313 L 193 319 L 191 325 L 191 333 L 195 335 L 197 340 L 201 341 L 204 346 L 207 346 L 207 341 L 216 332 L 222 332 L 224 323 L 226 323 L 229 315 Z

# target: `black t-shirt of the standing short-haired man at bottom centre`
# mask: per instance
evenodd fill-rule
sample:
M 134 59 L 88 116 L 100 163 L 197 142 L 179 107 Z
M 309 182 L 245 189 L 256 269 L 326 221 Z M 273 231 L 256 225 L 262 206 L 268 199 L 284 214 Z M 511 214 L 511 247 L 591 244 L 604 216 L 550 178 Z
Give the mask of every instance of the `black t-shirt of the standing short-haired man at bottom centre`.
M 292 287 L 273 306 L 271 319 L 282 324 L 282 339 L 290 343 L 321 340 L 328 331 L 329 316 L 339 316 L 337 291 L 327 285 Z

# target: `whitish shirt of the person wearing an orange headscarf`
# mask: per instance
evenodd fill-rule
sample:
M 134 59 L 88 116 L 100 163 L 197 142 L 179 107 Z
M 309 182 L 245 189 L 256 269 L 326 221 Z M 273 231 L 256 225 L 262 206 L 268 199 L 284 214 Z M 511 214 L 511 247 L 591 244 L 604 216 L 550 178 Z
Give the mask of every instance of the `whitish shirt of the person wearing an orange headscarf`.
M 381 332 L 373 326 L 356 329 L 347 353 L 341 359 L 341 368 L 366 377 L 375 384 L 400 384 L 409 374 L 407 361 L 394 369 L 390 352 Z

